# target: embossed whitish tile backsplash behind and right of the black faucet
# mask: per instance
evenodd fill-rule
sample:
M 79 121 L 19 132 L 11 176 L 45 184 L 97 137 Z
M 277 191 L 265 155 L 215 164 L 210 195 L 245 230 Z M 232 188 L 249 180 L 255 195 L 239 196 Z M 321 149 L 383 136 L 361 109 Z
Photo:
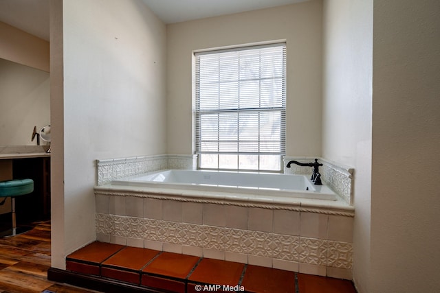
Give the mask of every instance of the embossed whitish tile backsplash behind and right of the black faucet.
M 311 157 L 294 157 L 285 156 L 283 158 L 284 166 L 289 163 L 289 161 L 295 160 L 300 162 L 314 162 L 315 158 Z M 318 162 L 322 163 L 323 166 L 320 167 L 320 174 L 322 176 L 322 182 L 329 185 L 333 191 L 336 192 L 341 198 L 345 200 L 348 204 L 353 204 L 353 173 L 354 169 L 344 165 L 336 165 L 336 163 L 331 163 L 322 158 L 318 158 Z M 292 165 L 290 168 L 284 167 L 285 174 L 303 174 L 311 176 L 312 168 L 303 167 L 298 165 Z

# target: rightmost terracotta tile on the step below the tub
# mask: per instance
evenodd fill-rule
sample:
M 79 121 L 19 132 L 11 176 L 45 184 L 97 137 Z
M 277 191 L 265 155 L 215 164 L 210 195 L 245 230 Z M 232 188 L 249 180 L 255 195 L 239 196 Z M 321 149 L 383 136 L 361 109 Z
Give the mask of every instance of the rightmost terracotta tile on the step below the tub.
M 356 293 L 351 281 L 297 274 L 299 293 Z

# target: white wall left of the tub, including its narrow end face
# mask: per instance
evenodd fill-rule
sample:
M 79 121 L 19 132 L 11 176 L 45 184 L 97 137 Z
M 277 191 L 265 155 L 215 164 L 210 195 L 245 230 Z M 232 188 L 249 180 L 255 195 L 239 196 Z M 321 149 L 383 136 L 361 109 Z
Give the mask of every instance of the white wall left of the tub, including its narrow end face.
M 52 163 L 52 266 L 64 268 L 65 255 L 96 239 L 94 160 L 166 152 L 166 27 L 140 0 L 54 9 L 63 38 L 51 36 L 51 60 L 64 82 L 51 85 L 52 152 L 63 162 Z

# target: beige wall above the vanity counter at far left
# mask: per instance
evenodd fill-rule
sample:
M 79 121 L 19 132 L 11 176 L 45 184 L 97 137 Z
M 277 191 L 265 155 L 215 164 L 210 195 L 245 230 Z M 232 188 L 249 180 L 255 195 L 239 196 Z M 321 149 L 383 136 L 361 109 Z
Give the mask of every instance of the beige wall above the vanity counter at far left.
M 0 21 L 0 145 L 36 145 L 34 126 L 50 124 L 49 57 L 49 42 Z

